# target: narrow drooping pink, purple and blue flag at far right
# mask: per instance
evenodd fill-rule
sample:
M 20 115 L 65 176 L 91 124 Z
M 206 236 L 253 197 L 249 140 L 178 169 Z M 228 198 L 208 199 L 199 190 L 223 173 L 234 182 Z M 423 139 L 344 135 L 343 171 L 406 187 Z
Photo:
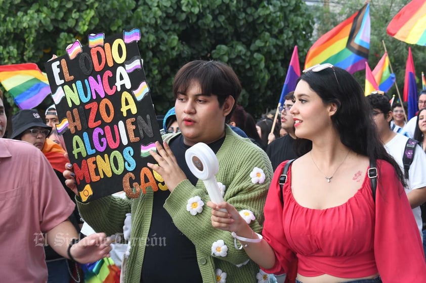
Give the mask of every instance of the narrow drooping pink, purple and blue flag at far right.
M 408 101 L 408 120 L 413 118 L 418 110 L 417 86 L 411 47 L 408 47 L 407 65 L 405 66 L 404 101 Z

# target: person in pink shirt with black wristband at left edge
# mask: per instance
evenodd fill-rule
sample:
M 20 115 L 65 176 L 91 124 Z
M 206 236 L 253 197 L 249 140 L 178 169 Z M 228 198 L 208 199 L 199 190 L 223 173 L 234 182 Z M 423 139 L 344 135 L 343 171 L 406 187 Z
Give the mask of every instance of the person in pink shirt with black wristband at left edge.
M 45 243 L 80 263 L 108 256 L 103 233 L 78 241 L 68 216 L 74 210 L 41 150 L 4 139 L 7 117 L 0 91 L 0 278 L 2 282 L 46 282 Z M 83 279 L 83 278 L 81 278 Z

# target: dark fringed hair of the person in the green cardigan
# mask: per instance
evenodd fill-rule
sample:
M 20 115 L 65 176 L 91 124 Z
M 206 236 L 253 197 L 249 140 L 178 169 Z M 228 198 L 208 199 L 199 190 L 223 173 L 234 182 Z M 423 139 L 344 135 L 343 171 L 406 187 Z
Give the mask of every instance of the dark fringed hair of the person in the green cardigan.
M 220 107 L 228 96 L 234 97 L 235 103 L 232 111 L 226 117 L 228 120 L 241 93 L 240 80 L 231 67 L 219 61 L 197 60 L 185 64 L 178 71 L 173 82 L 175 98 L 179 93 L 186 93 L 193 82 L 199 82 L 203 95 L 216 95 Z

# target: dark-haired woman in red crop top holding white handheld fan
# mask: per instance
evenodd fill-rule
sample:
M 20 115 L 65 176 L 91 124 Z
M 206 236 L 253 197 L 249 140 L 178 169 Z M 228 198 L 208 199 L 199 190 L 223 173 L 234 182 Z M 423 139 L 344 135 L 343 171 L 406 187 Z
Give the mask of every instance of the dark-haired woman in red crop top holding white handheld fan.
M 208 203 L 212 225 L 234 232 L 264 271 L 287 273 L 290 282 L 426 282 L 403 174 L 376 134 L 361 86 L 347 71 L 322 64 L 304 71 L 294 98 L 300 157 L 288 169 L 282 194 L 278 179 L 286 162 L 275 171 L 263 240 L 226 202 Z M 377 166 L 375 200 L 369 156 Z

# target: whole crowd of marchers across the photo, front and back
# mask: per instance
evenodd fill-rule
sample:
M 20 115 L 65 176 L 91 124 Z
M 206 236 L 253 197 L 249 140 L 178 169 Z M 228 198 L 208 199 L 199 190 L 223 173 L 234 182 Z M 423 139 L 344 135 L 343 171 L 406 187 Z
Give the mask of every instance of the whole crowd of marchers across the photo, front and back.
M 7 139 L 0 95 L 5 280 L 82 281 L 72 267 L 112 256 L 107 236 L 121 233 L 121 282 L 426 282 L 426 91 L 407 122 L 404 104 L 365 97 L 331 64 L 304 70 L 278 116 L 253 118 L 241 89 L 224 63 L 185 64 L 148 163 L 167 190 L 89 202 L 55 105 L 45 121 L 20 110 Z M 224 202 L 210 200 L 186 163 L 199 142 L 218 158 Z M 93 229 L 86 237 L 82 225 Z M 153 237 L 165 242 L 147 244 Z

